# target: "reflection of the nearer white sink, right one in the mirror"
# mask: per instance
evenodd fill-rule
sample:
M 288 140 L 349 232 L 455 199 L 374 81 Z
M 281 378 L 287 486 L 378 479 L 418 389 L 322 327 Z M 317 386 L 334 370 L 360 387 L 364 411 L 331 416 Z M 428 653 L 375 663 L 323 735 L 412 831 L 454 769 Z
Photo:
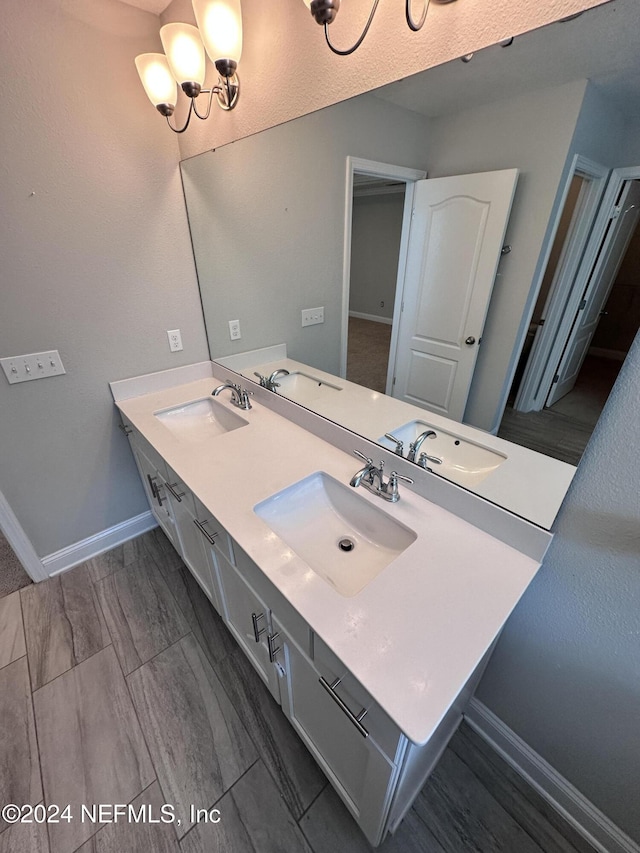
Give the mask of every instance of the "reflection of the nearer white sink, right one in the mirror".
M 424 452 L 441 459 L 440 464 L 427 462 L 427 466 L 436 474 L 442 474 L 460 486 L 477 486 L 507 458 L 504 453 L 468 441 L 425 421 L 409 421 L 396 429 L 390 429 L 389 432 L 403 442 L 403 453 L 406 456 L 411 442 L 429 429 L 435 431 L 436 437 L 432 436 L 423 441 L 418 456 Z M 395 449 L 394 443 L 385 436 L 378 439 L 378 444 L 390 450 Z

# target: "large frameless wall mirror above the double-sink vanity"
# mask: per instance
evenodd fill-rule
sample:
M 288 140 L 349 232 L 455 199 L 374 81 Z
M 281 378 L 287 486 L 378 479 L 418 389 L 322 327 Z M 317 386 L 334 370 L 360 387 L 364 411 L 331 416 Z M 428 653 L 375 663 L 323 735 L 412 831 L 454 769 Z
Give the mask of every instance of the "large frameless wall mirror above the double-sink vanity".
M 461 327 L 473 349 L 462 403 L 432 411 L 576 465 L 640 325 L 639 31 L 637 0 L 612 0 L 183 161 L 212 359 L 285 343 L 324 379 L 366 388 L 344 425 L 378 440 L 378 401 L 402 396 L 393 379 L 408 277 L 424 258 L 411 256 L 420 187 L 517 172 L 480 324 Z M 433 269 L 464 266 L 470 218 L 430 220 Z M 437 288 L 445 315 L 471 299 L 454 278 Z M 303 325 L 319 308 L 322 322 Z

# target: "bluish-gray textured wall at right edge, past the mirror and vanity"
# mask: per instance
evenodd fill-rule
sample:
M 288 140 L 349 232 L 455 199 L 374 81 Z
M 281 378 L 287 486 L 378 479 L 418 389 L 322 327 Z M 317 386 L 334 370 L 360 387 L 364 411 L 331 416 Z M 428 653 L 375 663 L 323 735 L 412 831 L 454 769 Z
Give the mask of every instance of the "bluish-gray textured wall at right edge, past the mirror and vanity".
M 478 697 L 640 842 L 640 337 Z

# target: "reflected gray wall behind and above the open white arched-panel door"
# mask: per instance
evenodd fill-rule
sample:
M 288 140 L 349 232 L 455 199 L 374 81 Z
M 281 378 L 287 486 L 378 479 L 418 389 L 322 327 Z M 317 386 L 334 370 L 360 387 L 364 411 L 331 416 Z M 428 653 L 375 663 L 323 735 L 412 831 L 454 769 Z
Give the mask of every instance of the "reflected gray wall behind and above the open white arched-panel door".
M 464 421 L 486 430 L 502 417 L 535 299 L 531 286 L 586 82 L 577 81 L 434 121 L 429 177 L 520 170 Z

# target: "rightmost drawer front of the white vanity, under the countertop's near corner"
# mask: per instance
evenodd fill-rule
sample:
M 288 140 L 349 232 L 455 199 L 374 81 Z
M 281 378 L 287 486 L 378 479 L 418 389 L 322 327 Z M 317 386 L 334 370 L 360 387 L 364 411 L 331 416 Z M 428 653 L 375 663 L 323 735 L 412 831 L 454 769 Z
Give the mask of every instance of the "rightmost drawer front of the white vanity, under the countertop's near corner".
M 395 761 L 398 749 L 404 743 L 402 732 L 317 634 L 313 635 L 313 662 L 329 685 L 341 679 L 335 687 L 335 694 L 354 716 L 366 710 L 361 718 L 362 725 L 385 755 Z

